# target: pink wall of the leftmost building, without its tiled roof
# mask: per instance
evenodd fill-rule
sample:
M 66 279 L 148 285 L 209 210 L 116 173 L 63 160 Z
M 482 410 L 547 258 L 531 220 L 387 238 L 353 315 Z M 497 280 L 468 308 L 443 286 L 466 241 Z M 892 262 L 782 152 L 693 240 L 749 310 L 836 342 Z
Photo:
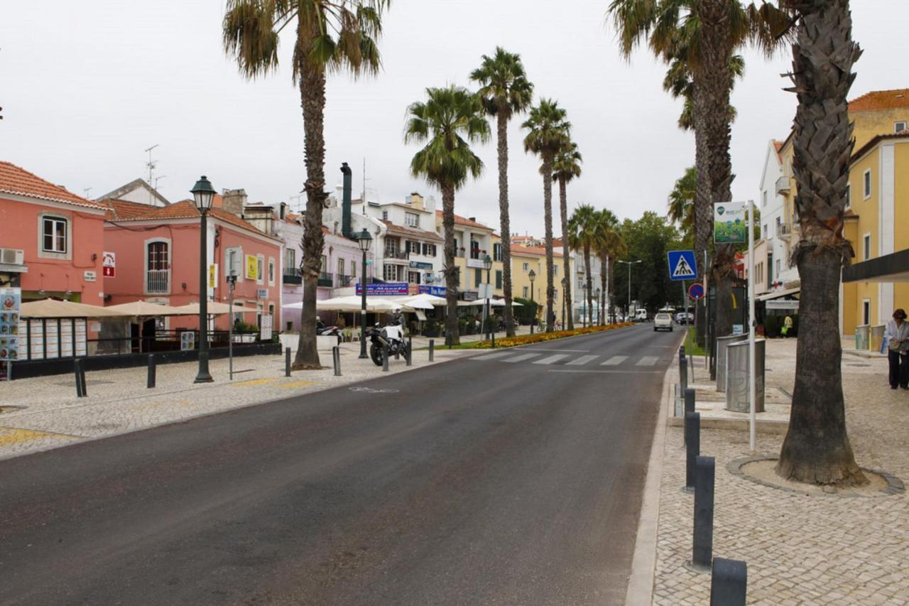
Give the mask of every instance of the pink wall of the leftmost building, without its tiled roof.
M 39 216 L 44 213 L 69 221 L 68 258 L 40 256 Z M 67 290 L 78 294 L 88 305 L 102 305 L 103 291 L 101 253 L 104 250 L 104 212 L 67 204 L 32 204 L 0 197 L 0 247 L 25 251 L 28 272 L 21 274 L 23 298 L 63 295 Z M 93 256 L 95 258 L 93 259 Z M 95 281 L 86 281 L 85 272 L 94 271 Z M 73 298 L 75 300 L 75 297 Z

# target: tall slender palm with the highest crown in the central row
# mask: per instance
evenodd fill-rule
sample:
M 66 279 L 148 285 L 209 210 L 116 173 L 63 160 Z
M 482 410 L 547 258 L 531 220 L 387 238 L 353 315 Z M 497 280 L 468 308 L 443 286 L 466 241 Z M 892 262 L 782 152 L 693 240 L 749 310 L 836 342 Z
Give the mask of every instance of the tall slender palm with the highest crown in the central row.
M 478 95 L 486 113 L 495 116 L 499 159 L 499 224 L 502 231 L 502 288 L 505 306 L 502 312 L 506 335 L 514 337 L 511 278 L 511 220 L 508 216 L 508 121 L 523 114 L 530 106 L 534 85 L 524 75 L 521 56 L 496 46 L 494 56 L 483 56 L 470 79 L 480 85 Z

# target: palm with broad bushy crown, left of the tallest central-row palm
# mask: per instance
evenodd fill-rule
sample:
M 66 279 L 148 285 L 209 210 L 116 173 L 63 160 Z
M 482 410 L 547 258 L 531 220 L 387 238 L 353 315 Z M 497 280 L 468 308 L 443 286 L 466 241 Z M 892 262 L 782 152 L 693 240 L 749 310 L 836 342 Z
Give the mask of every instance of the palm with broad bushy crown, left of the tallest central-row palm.
M 445 332 L 452 345 L 460 343 L 457 328 L 458 268 L 454 265 L 454 192 L 467 177 L 483 173 L 483 161 L 471 143 L 489 140 L 489 123 L 479 96 L 461 86 L 427 88 L 426 101 L 407 108 L 405 143 L 426 142 L 410 163 L 414 177 L 442 190 L 442 226 L 445 230 Z

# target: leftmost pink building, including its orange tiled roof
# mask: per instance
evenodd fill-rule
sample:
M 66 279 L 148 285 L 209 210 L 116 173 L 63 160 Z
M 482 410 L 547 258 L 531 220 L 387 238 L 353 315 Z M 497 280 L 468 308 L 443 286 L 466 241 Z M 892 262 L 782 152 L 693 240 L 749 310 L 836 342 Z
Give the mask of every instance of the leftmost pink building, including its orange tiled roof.
M 0 286 L 103 305 L 105 207 L 0 162 Z

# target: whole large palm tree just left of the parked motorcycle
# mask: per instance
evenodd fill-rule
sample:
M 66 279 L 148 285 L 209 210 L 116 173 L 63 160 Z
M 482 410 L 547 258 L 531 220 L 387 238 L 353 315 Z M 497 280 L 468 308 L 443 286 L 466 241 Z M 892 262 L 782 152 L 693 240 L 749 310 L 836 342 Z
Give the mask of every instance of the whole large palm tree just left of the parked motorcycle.
M 325 245 L 325 75 L 346 70 L 375 74 L 381 65 L 376 40 L 390 0 L 228 0 L 224 47 L 250 79 L 278 67 L 281 31 L 296 19 L 292 70 L 303 107 L 306 212 L 302 242 L 303 311 L 293 369 L 321 369 L 315 348 L 315 292 Z

